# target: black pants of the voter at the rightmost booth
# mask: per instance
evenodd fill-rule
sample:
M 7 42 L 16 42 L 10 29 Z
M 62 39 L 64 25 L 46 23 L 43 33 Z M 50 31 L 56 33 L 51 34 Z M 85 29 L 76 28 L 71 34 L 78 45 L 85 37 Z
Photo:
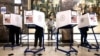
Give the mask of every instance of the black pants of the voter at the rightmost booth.
M 88 27 L 80 28 L 81 33 L 81 45 L 87 44 L 87 31 Z

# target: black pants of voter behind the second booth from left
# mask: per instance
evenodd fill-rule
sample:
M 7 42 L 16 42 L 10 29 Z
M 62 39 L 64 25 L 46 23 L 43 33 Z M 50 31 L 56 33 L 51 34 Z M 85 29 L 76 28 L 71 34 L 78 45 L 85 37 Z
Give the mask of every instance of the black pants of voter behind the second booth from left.
M 42 38 L 43 37 L 43 28 L 36 26 L 36 32 L 35 32 L 35 42 L 34 47 L 37 47 L 38 40 L 39 40 L 39 46 L 42 46 Z

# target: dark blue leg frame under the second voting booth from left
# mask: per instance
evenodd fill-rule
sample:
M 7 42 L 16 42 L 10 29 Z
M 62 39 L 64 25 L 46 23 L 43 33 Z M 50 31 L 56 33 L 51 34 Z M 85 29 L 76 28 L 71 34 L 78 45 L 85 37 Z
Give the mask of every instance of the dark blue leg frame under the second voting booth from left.
M 43 47 L 42 48 L 40 48 L 38 50 L 30 50 L 29 49 L 29 33 L 28 33 L 28 45 L 27 45 L 26 50 L 24 51 L 24 55 L 26 56 L 26 53 L 33 53 L 33 55 L 35 56 L 38 52 L 40 52 L 42 50 L 45 50 L 45 47 L 44 47 L 44 35 L 43 35 L 42 40 L 43 40 L 43 45 L 42 45 Z

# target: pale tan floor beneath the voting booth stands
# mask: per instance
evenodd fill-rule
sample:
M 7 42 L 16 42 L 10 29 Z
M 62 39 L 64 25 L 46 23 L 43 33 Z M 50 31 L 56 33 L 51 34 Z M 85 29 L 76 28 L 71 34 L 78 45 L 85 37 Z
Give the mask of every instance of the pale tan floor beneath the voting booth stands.
M 33 48 L 31 46 L 31 48 Z M 42 56 L 67 56 L 65 53 L 61 52 L 61 51 L 56 51 L 55 52 L 55 46 L 46 46 L 45 47 L 45 51 L 42 51 L 40 53 L 42 53 Z M 64 47 L 59 47 L 63 50 L 68 50 L 68 46 L 64 46 Z M 77 47 L 74 46 L 74 48 L 76 50 L 78 50 L 78 55 L 75 55 L 75 53 L 71 53 L 71 56 L 96 56 L 94 55 L 95 53 L 100 53 L 95 51 L 95 50 L 91 50 L 91 52 L 88 52 L 87 48 L 84 47 Z M 13 53 L 13 56 L 24 56 L 24 50 L 26 49 L 26 46 L 23 47 L 15 47 L 14 50 L 11 50 L 11 48 L 6 48 L 5 50 L 3 50 L 3 47 L 0 47 L 0 56 L 8 56 L 8 54 Z M 27 53 L 26 56 L 34 56 L 32 53 Z M 38 55 L 36 55 L 38 56 Z

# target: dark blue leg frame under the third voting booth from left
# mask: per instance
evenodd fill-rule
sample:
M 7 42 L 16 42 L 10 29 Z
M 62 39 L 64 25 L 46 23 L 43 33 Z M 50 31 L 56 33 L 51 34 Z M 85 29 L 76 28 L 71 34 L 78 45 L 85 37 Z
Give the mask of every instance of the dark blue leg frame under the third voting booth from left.
M 56 39 L 56 49 L 55 49 L 55 51 L 59 50 L 61 52 L 66 53 L 66 55 L 68 55 L 68 56 L 70 56 L 71 52 L 76 52 L 76 55 L 77 55 L 78 51 L 72 47 L 72 43 L 70 43 L 70 50 L 68 50 L 68 51 L 62 50 L 62 49 L 59 48 L 58 34 L 59 34 L 59 28 L 57 29 L 57 39 Z M 71 31 L 71 34 L 73 34 L 72 31 Z M 71 38 L 72 38 L 72 35 L 70 37 L 70 40 L 71 40 Z

